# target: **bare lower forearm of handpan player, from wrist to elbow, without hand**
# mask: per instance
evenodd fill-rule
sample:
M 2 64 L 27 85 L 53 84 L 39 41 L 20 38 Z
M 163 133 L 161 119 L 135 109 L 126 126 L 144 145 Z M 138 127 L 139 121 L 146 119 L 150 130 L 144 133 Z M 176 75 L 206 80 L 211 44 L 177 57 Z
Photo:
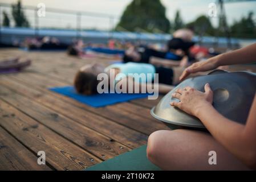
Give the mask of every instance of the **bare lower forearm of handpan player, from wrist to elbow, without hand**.
M 248 167 L 256 169 L 255 113 L 256 97 L 245 126 L 225 118 L 212 105 L 198 111 L 197 117 L 227 150 Z

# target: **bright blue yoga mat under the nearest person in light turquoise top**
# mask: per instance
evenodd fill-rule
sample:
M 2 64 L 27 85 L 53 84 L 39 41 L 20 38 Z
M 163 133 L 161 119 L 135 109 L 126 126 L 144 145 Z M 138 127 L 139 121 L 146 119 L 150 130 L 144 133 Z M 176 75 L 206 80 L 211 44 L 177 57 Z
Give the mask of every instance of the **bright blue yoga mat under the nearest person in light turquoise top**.
M 138 94 L 137 93 L 136 94 L 103 93 L 103 94 L 95 94 L 92 96 L 84 96 L 82 94 L 76 93 L 73 86 L 49 88 L 49 90 L 62 94 L 64 96 L 73 98 L 76 101 L 82 102 L 83 104 L 87 104 L 92 107 L 102 107 L 102 106 L 116 104 L 119 102 L 135 100 L 137 98 L 145 98 L 149 96 L 148 93 L 138 93 Z

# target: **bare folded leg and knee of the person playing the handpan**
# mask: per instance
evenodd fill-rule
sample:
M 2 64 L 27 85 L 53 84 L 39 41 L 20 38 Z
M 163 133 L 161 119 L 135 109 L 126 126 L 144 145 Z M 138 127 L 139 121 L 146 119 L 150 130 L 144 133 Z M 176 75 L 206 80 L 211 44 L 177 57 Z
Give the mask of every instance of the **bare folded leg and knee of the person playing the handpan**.
M 210 165 L 209 151 L 216 151 L 217 164 Z M 148 139 L 148 159 L 165 170 L 246 170 L 210 134 L 192 130 L 160 130 Z

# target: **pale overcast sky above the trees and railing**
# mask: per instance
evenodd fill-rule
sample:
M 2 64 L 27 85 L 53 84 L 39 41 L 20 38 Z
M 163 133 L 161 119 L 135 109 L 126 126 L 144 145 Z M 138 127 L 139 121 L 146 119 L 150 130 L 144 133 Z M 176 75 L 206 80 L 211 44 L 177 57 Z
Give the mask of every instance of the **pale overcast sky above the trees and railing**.
M 38 3 L 43 2 L 47 7 L 53 7 L 56 9 L 67 9 L 67 10 L 76 10 L 76 11 L 91 11 L 96 13 L 106 13 L 115 16 L 121 16 L 125 7 L 132 0 L 23 0 L 23 5 L 36 6 Z M 153 1 L 153 0 L 149 0 Z M 0 2 L 4 3 L 14 3 L 16 0 L 0 0 Z M 215 0 L 161 0 L 163 5 L 166 7 L 166 16 L 169 20 L 174 19 L 174 15 L 177 10 L 181 11 L 181 16 L 184 22 L 188 23 L 198 15 L 208 14 L 208 5 L 209 3 L 216 2 Z M 226 15 L 228 22 L 231 23 L 234 20 L 238 20 L 241 16 L 245 16 L 249 13 L 249 11 L 254 12 L 254 19 L 256 19 L 256 1 L 252 2 L 236 2 L 236 3 L 226 3 L 225 4 Z M 31 16 L 30 14 L 28 16 Z M 46 14 L 47 16 L 47 14 Z M 54 15 L 55 16 L 55 15 Z M 75 16 L 68 22 L 70 17 L 66 17 L 64 15 L 59 15 L 56 20 L 52 18 L 53 15 L 48 14 L 48 19 L 41 20 L 50 26 L 54 26 L 56 24 L 74 24 Z M 29 17 L 32 18 L 32 17 Z M 60 19 L 59 19 L 60 18 Z M 31 22 L 33 22 L 31 20 Z M 83 18 L 82 22 L 87 22 L 87 24 L 91 24 L 91 26 L 95 27 L 108 27 L 109 20 L 106 19 L 96 19 L 96 18 Z M 117 22 L 117 21 L 116 21 Z M 115 22 L 115 23 L 116 23 Z M 217 23 L 217 18 L 213 18 L 212 22 L 214 24 Z

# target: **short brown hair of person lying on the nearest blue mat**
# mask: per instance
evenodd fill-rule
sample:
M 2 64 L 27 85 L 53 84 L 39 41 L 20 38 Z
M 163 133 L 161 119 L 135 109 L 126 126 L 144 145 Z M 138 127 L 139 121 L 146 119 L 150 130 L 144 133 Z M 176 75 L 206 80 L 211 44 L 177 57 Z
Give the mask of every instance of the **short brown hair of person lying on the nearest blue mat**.
M 75 76 L 75 89 L 80 94 L 92 95 L 97 93 L 97 76 L 92 73 L 78 71 Z

